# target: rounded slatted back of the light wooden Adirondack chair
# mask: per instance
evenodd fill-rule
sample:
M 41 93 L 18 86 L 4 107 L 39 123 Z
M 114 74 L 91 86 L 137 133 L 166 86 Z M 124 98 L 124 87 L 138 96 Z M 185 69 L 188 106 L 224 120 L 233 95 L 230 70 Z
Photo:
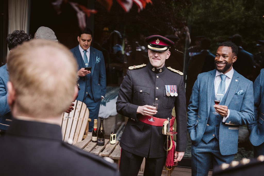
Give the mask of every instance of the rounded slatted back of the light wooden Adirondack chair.
M 62 115 L 62 137 L 64 142 L 75 144 L 82 141 L 84 134 L 88 133 L 89 110 L 86 104 L 75 100 L 74 110 L 69 113 L 70 118 L 66 118 L 68 113 Z

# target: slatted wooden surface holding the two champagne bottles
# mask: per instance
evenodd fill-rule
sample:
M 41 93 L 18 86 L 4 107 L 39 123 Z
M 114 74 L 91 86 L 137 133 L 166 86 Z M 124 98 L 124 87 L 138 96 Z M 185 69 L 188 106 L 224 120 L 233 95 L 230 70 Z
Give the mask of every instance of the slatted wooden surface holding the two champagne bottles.
M 107 156 L 113 159 L 119 166 L 121 155 L 119 141 L 116 141 L 115 144 L 110 144 L 110 140 L 105 139 L 104 146 L 97 146 L 96 142 L 92 142 L 92 133 L 88 132 L 87 137 L 84 140 L 74 144 L 74 146 L 98 156 Z

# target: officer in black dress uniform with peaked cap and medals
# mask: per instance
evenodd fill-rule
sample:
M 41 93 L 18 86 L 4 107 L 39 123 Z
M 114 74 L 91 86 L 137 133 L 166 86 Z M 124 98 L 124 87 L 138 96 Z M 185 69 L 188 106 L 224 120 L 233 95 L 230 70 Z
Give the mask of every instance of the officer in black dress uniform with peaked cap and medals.
M 144 175 L 161 175 L 166 160 L 162 125 L 168 117 L 172 118 L 174 106 L 178 132 L 174 161 L 180 161 L 186 150 L 183 73 L 165 66 L 174 42 L 160 35 L 149 36 L 145 41 L 149 64 L 129 67 L 116 102 L 117 112 L 129 117 L 120 140 L 121 175 L 137 175 L 144 157 Z M 157 110 L 153 110 L 152 103 L 158 104 Z M 155 122 L 148 120 L 151 115 Z

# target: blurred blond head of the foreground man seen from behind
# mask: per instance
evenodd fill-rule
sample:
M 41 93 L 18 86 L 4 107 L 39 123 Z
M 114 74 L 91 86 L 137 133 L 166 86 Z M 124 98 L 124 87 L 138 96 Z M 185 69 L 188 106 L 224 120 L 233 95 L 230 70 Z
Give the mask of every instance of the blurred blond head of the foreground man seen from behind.
M 17 110 L 34 117 L 58 116 L 73 99 L 77 63 L 62 44 L 34 39 L 7 59 Z

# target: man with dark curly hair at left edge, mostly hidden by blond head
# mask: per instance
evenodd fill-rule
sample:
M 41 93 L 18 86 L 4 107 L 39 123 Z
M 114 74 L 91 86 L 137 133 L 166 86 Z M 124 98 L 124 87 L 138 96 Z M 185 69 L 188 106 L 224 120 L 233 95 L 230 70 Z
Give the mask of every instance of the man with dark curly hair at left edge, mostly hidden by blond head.
M 12 52 L 17 45 L 22 44 L 24 41 L 31 40 L 31 36 L 25 33 L 23 30 L 16 30 L 11 34 L 8 34 L 6 41 L 8 49 Z M 0 67 L 0 130 L 7 130 L 10 122 L 12 121 L 12 116 L 10 108 L 7 103 L 7 82 L 9 81 L 9 73 L 7 69 L 7 64 Z

